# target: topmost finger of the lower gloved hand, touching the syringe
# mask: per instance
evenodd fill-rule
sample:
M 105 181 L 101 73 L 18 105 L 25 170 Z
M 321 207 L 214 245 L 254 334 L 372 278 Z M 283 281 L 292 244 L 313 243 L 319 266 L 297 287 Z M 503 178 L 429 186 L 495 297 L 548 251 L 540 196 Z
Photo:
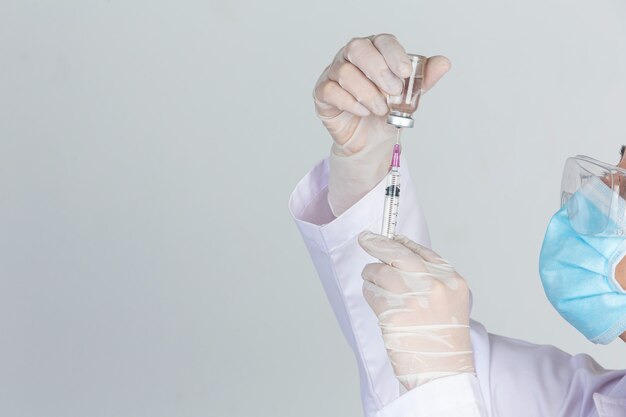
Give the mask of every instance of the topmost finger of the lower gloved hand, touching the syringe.
M 426 272 L 423 259 L 400 242 L 369 231 L 361 232 L 358 241 L 365 252 L 387 265 L 403 271 Z

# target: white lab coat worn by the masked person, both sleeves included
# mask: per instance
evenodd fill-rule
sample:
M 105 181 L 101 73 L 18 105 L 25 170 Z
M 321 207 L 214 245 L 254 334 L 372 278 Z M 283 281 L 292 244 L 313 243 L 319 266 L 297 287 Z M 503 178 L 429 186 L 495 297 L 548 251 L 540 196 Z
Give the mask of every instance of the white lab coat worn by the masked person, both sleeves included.
M 402 165 L 397 233 L 429 246 L 415 189 Z M 626 417 L 626 371 L 605 370 L 587 355 L 489 334 L 474 321 L 477 377 L 441 378 L 401 394 L 378 320 L 362 296 L 361 271 L 377 260 L 357 243 L 361 231 L 380 231 L 384 184 L 336 219 L 328 207 L 327 184 L 324 160 L 298 183 L 289 208 L 356 355 L 367 417 Z

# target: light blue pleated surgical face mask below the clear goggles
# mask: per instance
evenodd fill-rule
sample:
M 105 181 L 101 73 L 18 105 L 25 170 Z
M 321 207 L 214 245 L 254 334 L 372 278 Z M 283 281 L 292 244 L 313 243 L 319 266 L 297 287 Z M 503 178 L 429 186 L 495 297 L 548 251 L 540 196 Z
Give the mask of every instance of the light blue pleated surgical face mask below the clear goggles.
M 591 178 L 552 217 L 541 248 L 539 273 L 548 299 L 594 343 L 610 343 L 626 331 L 626 292 L 615 280 L 626 238 L 585 235 L 572 223 L 584 219 L 589 230 L 604 228 L 615 220 L 611 212 L 624 209 L 616 190 Z

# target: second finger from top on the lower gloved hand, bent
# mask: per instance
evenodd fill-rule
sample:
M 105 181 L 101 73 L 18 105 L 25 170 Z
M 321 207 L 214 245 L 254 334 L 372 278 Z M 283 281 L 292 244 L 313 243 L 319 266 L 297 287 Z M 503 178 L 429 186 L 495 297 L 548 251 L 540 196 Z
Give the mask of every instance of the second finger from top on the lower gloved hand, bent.
M 432 278 L 428 273 L 403 274 L 397 268 L 378 262 L 365 265 L 361 276 L 364 280 L 397 295 L 426 295 L 432 288 Z

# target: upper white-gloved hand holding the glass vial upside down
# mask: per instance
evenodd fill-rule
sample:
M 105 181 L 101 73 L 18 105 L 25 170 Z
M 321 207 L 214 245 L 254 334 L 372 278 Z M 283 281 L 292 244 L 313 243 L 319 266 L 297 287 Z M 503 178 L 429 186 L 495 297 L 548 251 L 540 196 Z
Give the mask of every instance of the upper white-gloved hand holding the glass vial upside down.
M 424 92 L 450 69 L 443 56 L 428 60 Z M 334 143 L 330 156 L 328 201 L 339 216 L 385 176 L 396 138 L 387 124 L 386 94 L 402 92 L 411 73 L 406 51 L 390 34 L 354 38 L 324 69 L 313 90 L 318 117 Z

